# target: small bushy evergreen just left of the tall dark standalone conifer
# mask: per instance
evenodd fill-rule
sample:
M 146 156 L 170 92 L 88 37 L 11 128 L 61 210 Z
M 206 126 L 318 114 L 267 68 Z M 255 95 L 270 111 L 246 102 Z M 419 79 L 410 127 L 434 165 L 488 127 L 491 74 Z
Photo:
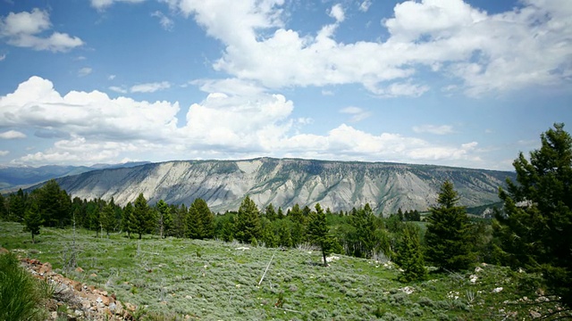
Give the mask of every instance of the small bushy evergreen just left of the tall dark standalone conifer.
M 425 259 L 419 243 L 419 228 L 417 226 L 411 223 L 404 225 L 398 255 L 397 263 L 403 269 L 399 276 L 401 282 L 425 279 L 427 269 L 425 268 Z

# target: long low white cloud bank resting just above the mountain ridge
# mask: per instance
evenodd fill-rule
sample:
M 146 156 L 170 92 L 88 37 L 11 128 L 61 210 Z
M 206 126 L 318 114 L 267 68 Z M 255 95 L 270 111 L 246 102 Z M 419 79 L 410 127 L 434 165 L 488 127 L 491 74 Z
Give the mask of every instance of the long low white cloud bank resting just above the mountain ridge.
M 215 86 L 224 88 L 232 81 Z M 346 124 L 324 135 L 308 134 L 313 120 L 294 118 L 293 111 L 294 103 L 284 95 L 247 86 L 240 93 L 229 90 L 206 95 L 189 106 L 181 123 L 178 103 L 139 102 L 123 96 L 112 99 L 98 91 L 60 95 L 49 80 L 32 77 L 12 94 L 0 96 L 0 127 L 34 128 L 34 136 L 55 140 L 13 161 L 32 165 L 116 162 L 126 157 L 165 161 L 259 155 L 450 165 L 479 161 L 475 142 L 432 144 L 391 133 L 374 135 Z M 355 106 L 341 112 L 353 118 L 367 113 Z M 7 132 L 2 136 L 19 135 Z

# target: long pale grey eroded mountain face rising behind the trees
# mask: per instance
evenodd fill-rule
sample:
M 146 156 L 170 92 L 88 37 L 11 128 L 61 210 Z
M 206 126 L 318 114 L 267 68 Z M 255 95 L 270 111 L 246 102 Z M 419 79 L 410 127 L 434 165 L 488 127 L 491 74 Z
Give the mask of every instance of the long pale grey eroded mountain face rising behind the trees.
M 259 208 L 295 203 L 351 210 L 369 203 L 383 214 L 426 210 L 450 179 L 460 203 L 498 202 L 498 187 L 510 172 L 391 163 L 257 159 L 250 161 L 169 161 L 129 169 L 101 169 L 63 177 L 58 183 L 72 197 L 101 197 L 125 205 L 139 193 L 151 203 L 189 205 L 204 199 L 211 210 L 237 210 L 248 194 Z

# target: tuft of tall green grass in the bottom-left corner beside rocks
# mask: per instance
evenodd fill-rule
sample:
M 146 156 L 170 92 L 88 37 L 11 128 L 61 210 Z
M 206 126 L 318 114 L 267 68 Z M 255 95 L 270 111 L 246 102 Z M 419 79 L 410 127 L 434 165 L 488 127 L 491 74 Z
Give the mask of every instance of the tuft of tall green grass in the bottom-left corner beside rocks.
M 42 320 L 41 303 L 49 292 L 45 284 L 20 267 L 12 254 L 0 254 L 0 320 Z

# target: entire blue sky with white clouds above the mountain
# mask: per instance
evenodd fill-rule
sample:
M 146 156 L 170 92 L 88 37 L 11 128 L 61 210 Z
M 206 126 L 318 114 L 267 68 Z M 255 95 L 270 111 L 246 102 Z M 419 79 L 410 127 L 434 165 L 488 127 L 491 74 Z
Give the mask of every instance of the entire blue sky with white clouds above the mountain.
M 569 0 L 0 0 L 0 165 L 511 170 L 572 131 Z

